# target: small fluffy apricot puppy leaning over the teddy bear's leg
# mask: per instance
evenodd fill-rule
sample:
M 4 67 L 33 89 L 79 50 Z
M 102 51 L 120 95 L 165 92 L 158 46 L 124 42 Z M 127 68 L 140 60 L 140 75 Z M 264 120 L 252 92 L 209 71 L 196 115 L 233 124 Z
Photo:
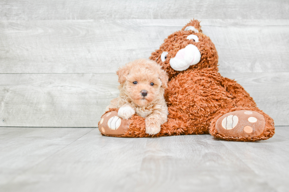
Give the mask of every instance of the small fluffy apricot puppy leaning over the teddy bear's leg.
M 121 67 L 119 76 L 119 97 L 114 98 L 109 108 L 119 108 L 118 116 L 130 118 L 134 113 L 145 118 L 146 133 L 160 132 L 160 126 L 167 121 L 168 107 L 164 98 L 168 75 L 161 66 L 149 59 L 137 59 Z

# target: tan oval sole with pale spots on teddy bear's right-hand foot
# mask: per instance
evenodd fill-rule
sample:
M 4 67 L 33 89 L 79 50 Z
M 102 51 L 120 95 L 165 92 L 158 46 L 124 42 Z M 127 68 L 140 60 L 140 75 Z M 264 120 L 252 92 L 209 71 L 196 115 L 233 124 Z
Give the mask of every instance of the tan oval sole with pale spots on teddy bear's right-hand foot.
M 257 137 L 265 128 L 265 118 L 256 111 L 232 111 L 221 116 L 216 122 L 216 131 L 224 136 Z

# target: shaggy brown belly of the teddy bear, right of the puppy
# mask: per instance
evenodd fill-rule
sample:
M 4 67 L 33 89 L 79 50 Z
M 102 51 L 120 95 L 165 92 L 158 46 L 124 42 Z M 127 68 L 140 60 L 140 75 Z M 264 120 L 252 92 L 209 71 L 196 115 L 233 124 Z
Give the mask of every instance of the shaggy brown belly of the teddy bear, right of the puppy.
M 221 86 L 221 76 L 209 70 L 178 74 L 165 91 L 169 118 L 179 118 L 190 127 L 208 127 L 218 111 L 234 106 L 234 100 Z

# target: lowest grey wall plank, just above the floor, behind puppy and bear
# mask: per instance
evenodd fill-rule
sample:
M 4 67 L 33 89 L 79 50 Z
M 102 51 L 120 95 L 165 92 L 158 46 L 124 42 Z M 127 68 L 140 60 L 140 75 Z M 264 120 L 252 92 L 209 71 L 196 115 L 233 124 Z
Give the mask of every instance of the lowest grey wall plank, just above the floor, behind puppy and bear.
M 244 86 L 276 126 L 289 124 L 289 73 L 222 75 Z M 117 80 L 116 74 L 0 74 L 0 126 L 96 127 L 119 94 Z

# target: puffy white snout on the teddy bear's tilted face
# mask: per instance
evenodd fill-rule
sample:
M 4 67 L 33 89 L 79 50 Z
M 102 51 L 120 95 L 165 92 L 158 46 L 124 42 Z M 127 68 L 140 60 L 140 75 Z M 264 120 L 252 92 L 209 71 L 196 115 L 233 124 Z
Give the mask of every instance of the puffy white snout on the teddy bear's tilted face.
M 184 49 L 180 49 L 176 56 L 170 59 L 170 66 L 176 71 L 188 69 L 191 65 L 197 64 L 201 60 L 199 49 L 189 44 Z

